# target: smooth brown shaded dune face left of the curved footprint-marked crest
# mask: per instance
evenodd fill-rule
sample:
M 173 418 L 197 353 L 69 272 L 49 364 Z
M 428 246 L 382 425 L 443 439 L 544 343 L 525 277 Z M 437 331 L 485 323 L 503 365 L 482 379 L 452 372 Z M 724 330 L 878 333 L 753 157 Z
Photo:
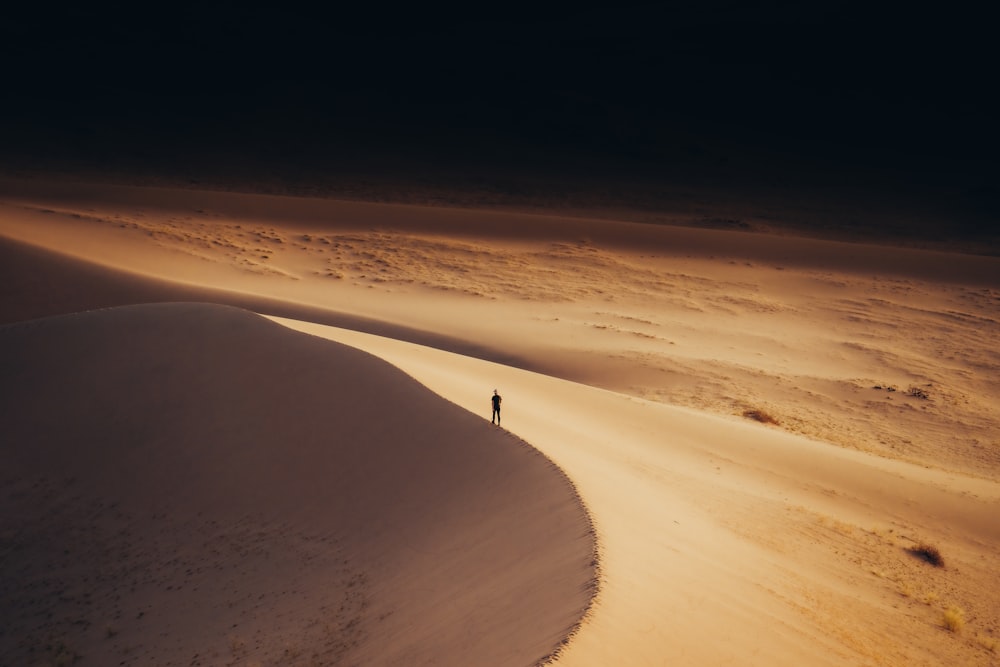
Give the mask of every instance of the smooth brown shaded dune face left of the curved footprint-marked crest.
M 2 664 L 533 664 L 590 604 L 565 476 L 363 352 L 158 304 L 0 362 Z

